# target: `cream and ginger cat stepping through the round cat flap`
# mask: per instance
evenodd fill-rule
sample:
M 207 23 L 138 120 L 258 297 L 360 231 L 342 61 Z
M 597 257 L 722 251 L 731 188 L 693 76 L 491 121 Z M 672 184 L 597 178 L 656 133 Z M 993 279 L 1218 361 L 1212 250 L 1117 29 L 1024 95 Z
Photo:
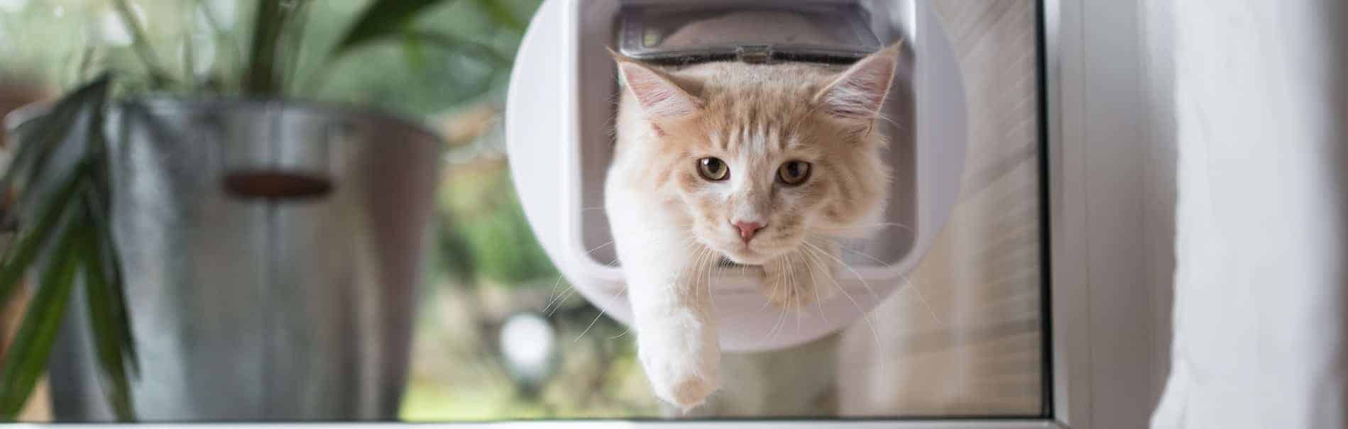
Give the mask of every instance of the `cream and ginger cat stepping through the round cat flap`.
M 604 206 L 639 360 L 655 395 L 686 412 L 720 379 L 706 270 L 744 265 L 782 308 L 826 299 L 836 285 L 810 281 L 838 261 L 826 237 L 883 210 L 875 125 L 899 44 L 851 66 L 613 56 L 621 95 Z

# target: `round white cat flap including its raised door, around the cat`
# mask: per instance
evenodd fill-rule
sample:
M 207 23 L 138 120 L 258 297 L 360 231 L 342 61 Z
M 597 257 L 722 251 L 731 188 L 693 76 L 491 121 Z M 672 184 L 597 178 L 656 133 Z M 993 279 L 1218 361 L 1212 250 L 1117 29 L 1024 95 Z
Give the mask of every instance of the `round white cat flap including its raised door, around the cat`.
M 520 43 L 504 124 L 511 176 L 538 242 L 580 296 L 607 316 L 632 320 L 603 208 L 619 90 L 612 50 L 667 66 L 845 67 L 902 39 L 905 61 L 886 100 L 886 121 L 876 124 L 890 141 L 880 156 L 894 186 L 884 218 L 876 219 L 883 227 L 848 242 L 853 251 L 841 258 L 849 268 L 832 273 L 833 286 L 847 293 L 811 304 L 786 329 L 780 312 L 763 311 L 760 278 L 725 269 L 708 280 L 727 351 L 790 347 L 871 323 L 868 312 L 909 284 L 961 187 L 962 74 L 934 13 L 925 0 L 543 1 Z

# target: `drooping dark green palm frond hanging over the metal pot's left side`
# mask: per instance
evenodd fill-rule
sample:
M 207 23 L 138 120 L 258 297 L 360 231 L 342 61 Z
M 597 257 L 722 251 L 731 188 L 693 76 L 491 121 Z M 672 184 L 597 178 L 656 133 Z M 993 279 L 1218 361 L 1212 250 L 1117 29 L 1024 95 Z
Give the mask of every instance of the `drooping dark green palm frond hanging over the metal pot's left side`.
M 24 212 L 20 238 L 0 266 L 0 299 L 8 301 L 23 273 L 46 261 L 36 295 L 19 324 L 19 334 L 0 367 L 0 418 L 13 420 L 28 394 L 46 371 L 61 320 L 70 301 L 77 274 L 82 274 L 90 328 L 96 334 L 98 367 L 106 375 L 109 403 L 119 420 L 132 420 L 128 366 L 135 368 L 135 351 L 121 270 L 115 264 L 106 214 L 106 145 L 102 139 L 102 109 L 111 79 L 102 77 L 75 90 L 46 116 L 23 125 L 24 144 L 15 156 L 5 183 L 26 176 L 20 208 Z M 80 118 L 86 118 L 78 126 Z M 71 130 L 84 130 L 71 134 Z M 55 153 L 78 153 L 73 163 Z M 65 167 L 70 165 L 70 167 Z M 62 168 L 65 167 L 65 168 Z M 55 184 L 55 186 L 53 186 Z M 129 362 L 128 362 L 129 360 Z

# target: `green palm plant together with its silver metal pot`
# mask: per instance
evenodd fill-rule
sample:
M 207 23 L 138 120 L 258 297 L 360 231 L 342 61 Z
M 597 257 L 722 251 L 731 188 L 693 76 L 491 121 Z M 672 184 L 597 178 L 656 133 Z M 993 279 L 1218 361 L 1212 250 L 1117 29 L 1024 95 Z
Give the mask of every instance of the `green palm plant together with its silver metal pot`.
M 154 403 L 139 413 L 151 420 L 394 417 L 439 140 L 295 94 L 384 40 L 508 61 L 408 26 L 445 1 L 377 0 L 299 82 L 310 3 L 256 1 L 236 70 L 181 75 L 156 63 L 133 5 L 113 0 L 140 73 L 100 74 L 11 117 L 19 149 L 0 190 L 20 190 L 5 211 L 19 227 L 0 300 L 26 276 L 35 292 L 0 366 L 0 418 L 49 360 L 66 391 L 93 381 L 105 397 L 58 403 L 58 418 L 135 420 L 137 399 Z

